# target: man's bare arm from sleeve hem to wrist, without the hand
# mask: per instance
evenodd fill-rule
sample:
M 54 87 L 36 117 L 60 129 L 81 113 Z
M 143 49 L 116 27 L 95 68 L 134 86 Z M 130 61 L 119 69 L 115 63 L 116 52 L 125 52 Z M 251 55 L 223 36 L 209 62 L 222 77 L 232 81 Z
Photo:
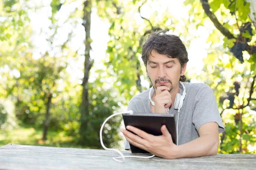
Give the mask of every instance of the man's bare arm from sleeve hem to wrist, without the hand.
M 218 124 L 209 122 L 199 128 L 199 138 L 186 144 L 175 147 L 175 157 L 172 158 L 192 158 L 200 156 L 215 155 L 218 152 L 219 135 Z

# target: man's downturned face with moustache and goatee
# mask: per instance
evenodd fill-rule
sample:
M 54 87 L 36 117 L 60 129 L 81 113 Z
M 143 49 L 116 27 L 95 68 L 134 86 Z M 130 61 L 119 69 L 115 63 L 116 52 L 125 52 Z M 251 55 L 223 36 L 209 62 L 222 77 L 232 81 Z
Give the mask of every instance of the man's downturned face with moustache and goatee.
M 153 57 L 154 56 L 154 57 Z M 165 85 L 168 88 L 177 89 L 179 87 L 180 76 L 184 76 L 186 64 L 181 68 L 177 58 L 169 58 L 151 51 L 147 62 L 147 76 L 151 79 L 156 90 L 157 87 Z

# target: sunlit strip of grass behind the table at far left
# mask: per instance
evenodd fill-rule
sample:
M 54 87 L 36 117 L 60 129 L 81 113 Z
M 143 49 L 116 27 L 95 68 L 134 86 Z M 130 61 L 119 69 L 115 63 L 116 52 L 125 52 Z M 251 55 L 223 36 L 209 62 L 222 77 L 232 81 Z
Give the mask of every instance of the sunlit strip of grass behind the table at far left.
M 0 147 L 6 144 L 24 144 L 50 147 L 86 148 L 75 144 L 73 136 L 67 136 L 64 132 L 48 130 L 47 140 L 43 141 L 43 129 L 32 126 L 20 126 L 17 129 L 0 130 Z

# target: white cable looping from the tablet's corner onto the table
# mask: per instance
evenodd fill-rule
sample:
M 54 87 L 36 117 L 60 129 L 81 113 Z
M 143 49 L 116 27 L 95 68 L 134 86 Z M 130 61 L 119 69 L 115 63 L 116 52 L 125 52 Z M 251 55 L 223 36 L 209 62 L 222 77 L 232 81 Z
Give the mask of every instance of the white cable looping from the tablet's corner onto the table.
M 118 156 L 118 157 L 113 157 L 113 160 L 114 161 L 118 161 L 118 162 L 123 162 L 125 161 L 125 158 L 144 158 L 144 159 L 148 159 L 148 158 L 153 158 L 154 155 L 152 156 L 124 156 L 122 154 L 122 152 L 120 152 L 119 150 L 117 149 L 114 149 L 114 148 L 108 148 L 106 147 L 104 144 L 103 144 L 103 140 L 102 140 L 102 130 L 103 130 L 103 127 L 105 126 L 106 122 L 113 116 L 116 116 L 116 115 L 119 115 L 119 114 L 123 114 L 123 113 L 130 113 L 130 114 L 133 114 L 133 111 L 127 111 L 127 112 L 119 112 L 119 113 L 114 113 L 112 114 L 111 116 L 109 116 L 102 124 L 101 128 L 100 128 L 100 132 L 99 132 L 99 138 L 100 138 L 100 143 L 102 145 L 102 147 L 105 149 L 105 150 L 114 150 L 116 152 L 118 152 L 121 156 Z M 119 158 L 122 158 L 122 161 L 121 160 L 118 160 Z

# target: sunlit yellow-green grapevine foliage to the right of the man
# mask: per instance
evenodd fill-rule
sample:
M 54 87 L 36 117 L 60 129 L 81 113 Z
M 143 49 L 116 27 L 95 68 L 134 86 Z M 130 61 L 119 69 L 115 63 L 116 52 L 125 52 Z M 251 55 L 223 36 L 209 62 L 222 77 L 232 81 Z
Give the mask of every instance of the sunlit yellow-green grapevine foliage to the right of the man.
M 209 20 L 207 15 L 198 16 L 198 11 L 203 10 L 199 0 L 185 0 L 184 5 L 191 6 L 189 16 L 201 21 L 198 25 Z M 203 72 L 197 76 L 199 81 L 206 82 L 214 90 L 226 127 L 225 133 L 221 135 L 219 152 L 255 153 L 255 104 L 248 99 L 250 90 L 254 91 L 252 74 L 255 74 L 256 68 L 256 51 L 252 50 L 256 46 L 253 41 L 256 37 L 255 27 L 248 24 L 255 21 L 247 15 L 251 9 L 250 3 L 244 0 L 209 0 L 209 7 L 218 22 L 236 37 L 226 37 L 216 31 L 217 28 L 210 29 L 209 32 L 212 33 L 207 42 L 210 42 L 212 47 L 208 49 L 208 56 L 204 59 Z M 202 12 L 204 13 L 204 10 Z M 221 40 L 224 42 L 222 47 Z M 239 60 L 232 57 L 232 54 Z M 195 74 L 190 75 L 193 78 L 194 76 Z M 252 93 L 250 98 L 254 99 L 255 94 Z M 244 108 L 245 105 L 248 106 Z

